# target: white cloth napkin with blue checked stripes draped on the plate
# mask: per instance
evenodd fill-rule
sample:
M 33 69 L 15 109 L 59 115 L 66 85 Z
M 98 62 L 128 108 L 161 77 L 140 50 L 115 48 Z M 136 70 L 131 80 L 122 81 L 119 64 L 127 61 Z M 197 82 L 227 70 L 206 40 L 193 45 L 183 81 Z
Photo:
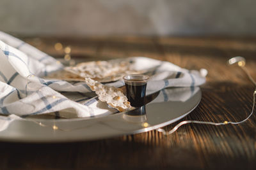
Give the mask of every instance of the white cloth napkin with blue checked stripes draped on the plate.
M 151 78 L 147 94 L 166 87 L 194 87 L 205 83 L 205 75 L 182 69 L 170 62 L 147 57 L 129 58 L 137 69 L 147 69 Z M 115 113 L 102 103 L 84 82 L 69 83 L 42 78 L 63 69 L 58 60 L 4 32 L 0 32 L 0 113 L 28 117 L 45 113 L 58 117 L 93 117 Z M 124 81 L 108 83 L 115 87 Z M 170 95 L 170 94 L 168 94 Z M 163 95 L 163 100 L 166 95 Z

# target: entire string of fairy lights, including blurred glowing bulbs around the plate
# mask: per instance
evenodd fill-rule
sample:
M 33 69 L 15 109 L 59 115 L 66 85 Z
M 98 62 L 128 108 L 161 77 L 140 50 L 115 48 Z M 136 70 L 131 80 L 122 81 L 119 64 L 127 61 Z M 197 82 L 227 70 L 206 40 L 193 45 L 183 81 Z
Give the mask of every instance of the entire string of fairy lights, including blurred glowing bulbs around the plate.
M 76 64 L 76 61 L 71 59 L 71 55 L 70 55 L 71 47 L 70 46 L 66 46 L 65 48 L 63 48 L 63 45 L 61 43 L 56 43 L 54 45 L 54 48 L 57 51 L 63 50 L 63 52 L 65 53 L 64 60 L 66 62 L 69 62 L 70 66 L 74 66 Z M 245 67 L 246 60 L 244 59 L 244 57 L 240 57 L 240 56 L 233 57 L 233 58 L 228 60 L 228 64 L 229 65 L 237 64 L 237 66 L 239 66 L 244 71 L 246 76 L 248 76 L 249 80 L 252 81 L 252 83 L 255 85 L 255 90 L 253 92 L 252 111 L 248 115 L 248 117 L 244 118 L 244 120 L 241 120 L 239 122 L 230 122 L 228 120 L 225 120 L 224 122 L 204 122 L 204 121 L 199 121 L 199 120 L 185 120 L 185 121 L 182 121 L 179 124 L 175 125 L 175 127 L 173 127 L 170 131 L 166 131 L 166 130 L 164 130 L 162 128 L 157 129 L 157 131 L 163 133 L 166 136 L 168 136 L 168 135 L 172 134 L 173 132 L 177 131 L 179 129 L 179 127 L 181 127 L 182 125 L 185 125 L 185 124 L 207 124 L 207 125 L 216 125 L 216 126 L 218 126 L 218 125 L 227 125 L 227 124 L 237 125 L 237 124 L 241 124 L 243 122 L 246 122 L 246 120 L 248 120 L 250 117 L 252 117 L 253 111 L 254 111 L 254 108 L 255 108 L 256 82 L 255 82 L 255 80 L 253 80 L 250 72 Z M 33 76 L 33 75 L 29 75 L 29 76 Z M 52 98 L 56 99 L 56 96 L 52 96 Z M 31 121 L 34 122 L 35 124 L 38 124 L 38 125 L 42 126 L 42 127 L 51 127 L 54 131 L 56 131 L 56 130 L 59 130 L 59 131 L 74 131 L 76 129 L 86 128 L 86 127 L 77 127 L 77 128 L 74 128 L 74 129 L 61 129 L 60 127 L 58 127 L 56 125 L 46 125 L 46 124 L 42 124 L 42 122 L 37 122 L 35 120 L 31 120 Z M 143 128 L 150 127 L 150 124 L 148 124 L 147 122 L 143 122 L 141 124 L 141 127 L 143 127 Z

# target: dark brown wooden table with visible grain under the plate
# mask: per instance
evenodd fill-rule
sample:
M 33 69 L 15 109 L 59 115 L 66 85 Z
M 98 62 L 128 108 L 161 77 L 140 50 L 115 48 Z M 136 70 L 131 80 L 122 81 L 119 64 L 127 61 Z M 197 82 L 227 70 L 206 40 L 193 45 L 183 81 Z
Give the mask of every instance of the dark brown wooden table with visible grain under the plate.
M 54 44 L 61 42 L 64 47 L 71 46 L 72 58 L 146 56 L 186 69 L 207 69 L 202 101 L 182 120 L 240 121 L 252 109 L 255 87 L 238 66 L 228 66 L 227 60 L 245 57 L 246 67 L 256 78 L 256 38 L 22 39 L 57 58 L 64 52 L 56 51 Z M 170 136 L 150 131 L 80 143 L 1 143 L 0 150 L 0 169 L 255 169 L 256 116 L 239 125 L 188 124 Z

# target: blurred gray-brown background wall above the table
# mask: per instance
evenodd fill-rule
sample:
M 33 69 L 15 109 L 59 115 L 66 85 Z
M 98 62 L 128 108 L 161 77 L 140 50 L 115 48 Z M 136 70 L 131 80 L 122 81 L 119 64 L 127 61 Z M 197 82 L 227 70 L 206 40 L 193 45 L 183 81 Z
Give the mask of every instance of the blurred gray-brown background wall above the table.
M 0 0 L 22 35 L 256 35 L 255 0 Z

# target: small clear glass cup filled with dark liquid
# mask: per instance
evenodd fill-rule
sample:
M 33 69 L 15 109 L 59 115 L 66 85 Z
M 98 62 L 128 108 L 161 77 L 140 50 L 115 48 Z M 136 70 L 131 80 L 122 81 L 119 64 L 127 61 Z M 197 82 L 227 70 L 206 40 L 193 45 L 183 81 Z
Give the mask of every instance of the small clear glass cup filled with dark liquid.
M 144 74 L 124 76 L 126 96 L 131 106 L 140 107 L 144 105 L 148 78 L 149 76 Z

